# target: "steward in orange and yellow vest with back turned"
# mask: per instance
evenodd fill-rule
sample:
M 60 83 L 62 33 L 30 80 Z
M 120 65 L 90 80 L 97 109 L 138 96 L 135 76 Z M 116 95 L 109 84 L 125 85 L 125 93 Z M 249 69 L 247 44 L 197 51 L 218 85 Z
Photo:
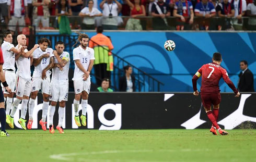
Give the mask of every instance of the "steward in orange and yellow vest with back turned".
M 110 71 L 113 71 L 113 61 L 110 61 L 112 57 L 111 51 L 114 47 L 110 39 L 103 35 L 103 28 L 101 26 L 97 27 L 97 34 L 92 36 L 89 41 L 89 47 L 94 48 L 94 71 L 96 76 L 97 85 L 101 85 L 101 80 L 103 78 L 111 78 Z

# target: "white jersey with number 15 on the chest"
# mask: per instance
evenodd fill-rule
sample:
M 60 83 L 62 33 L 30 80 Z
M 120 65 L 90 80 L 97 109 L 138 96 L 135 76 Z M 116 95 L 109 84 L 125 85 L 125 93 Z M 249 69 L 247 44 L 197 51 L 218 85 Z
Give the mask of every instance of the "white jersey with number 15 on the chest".
M 94 57 L 94 49 L 90 47 L 86 47 L 86 49 L 83 49 L 81 46 L 76 47 L 73 49 L 73 60 L 80 60 L 80 63 L 83 65 L 85 70 L 88 70 L 90 60 L 95 59 Z M 81 71 L 75 63 L 75 71 L 74 71 L 74 77 L 72 80 L 81 80 L 84 76 L 84 72 Z

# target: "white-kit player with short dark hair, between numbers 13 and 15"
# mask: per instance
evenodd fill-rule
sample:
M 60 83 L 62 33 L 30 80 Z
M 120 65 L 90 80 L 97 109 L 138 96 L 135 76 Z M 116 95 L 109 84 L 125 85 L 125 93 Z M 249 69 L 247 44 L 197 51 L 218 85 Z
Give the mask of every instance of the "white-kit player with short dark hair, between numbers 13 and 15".
M 49 132 L 54 133 L 53 116 L 55 113 L 55 106 L 59 101 L 59 123 L 56 127 L 60 133 L 64 133 L 62 124 L 65 112 L 65 105 L 68 97 L 68 70 L 69 70 L 69 53 L 64 52 L 64 43 L 59 41 L 55 45 L 56 51 L 54 54 L 54 68 L 52 69 L 51 80 L 51 106 L 49 109 Z

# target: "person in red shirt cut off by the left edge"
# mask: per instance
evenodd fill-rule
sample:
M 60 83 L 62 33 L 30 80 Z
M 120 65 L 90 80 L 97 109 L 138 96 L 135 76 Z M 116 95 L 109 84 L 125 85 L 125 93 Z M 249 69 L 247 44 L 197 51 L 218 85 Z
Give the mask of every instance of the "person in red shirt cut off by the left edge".
M 5 73 L 3 70 L 4 58 L 2 54 L 2 50 L 0 48 L 0 81 L 4 85 L 4 88 L 7 92 L 11 93 L 11 89 L 8 87 L 7 82 L 5 81 Z M 1 136 L 10 136 L 5 131 L 5 123 L 6 123 L 6 114 L 5 114 L 5 104 L 4 104 L 4 94 L 3 91 L 0 91 L 0 123 L 1 123 Z

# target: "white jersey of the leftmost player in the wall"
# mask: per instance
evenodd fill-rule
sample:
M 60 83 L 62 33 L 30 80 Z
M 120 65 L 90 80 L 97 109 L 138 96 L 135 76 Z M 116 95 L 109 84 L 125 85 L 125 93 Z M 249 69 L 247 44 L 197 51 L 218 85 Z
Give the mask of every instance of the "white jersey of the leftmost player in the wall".
M 15 71 L 15 54 L 10 51 L 12 47 L 14 47 L 14 45 L 6 41 L 4 41 L 1 46 L 4 57 L 4 70 L 13 69 Z

